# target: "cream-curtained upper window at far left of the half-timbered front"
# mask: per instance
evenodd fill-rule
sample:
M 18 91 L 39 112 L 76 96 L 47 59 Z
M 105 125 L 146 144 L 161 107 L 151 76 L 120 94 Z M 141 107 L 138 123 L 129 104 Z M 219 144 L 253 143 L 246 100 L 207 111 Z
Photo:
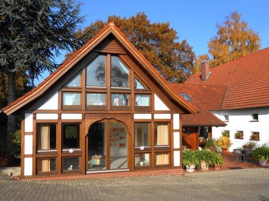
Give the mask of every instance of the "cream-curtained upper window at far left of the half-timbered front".
M 56 149 L 56 124 L 38 124 L 37 149 Z

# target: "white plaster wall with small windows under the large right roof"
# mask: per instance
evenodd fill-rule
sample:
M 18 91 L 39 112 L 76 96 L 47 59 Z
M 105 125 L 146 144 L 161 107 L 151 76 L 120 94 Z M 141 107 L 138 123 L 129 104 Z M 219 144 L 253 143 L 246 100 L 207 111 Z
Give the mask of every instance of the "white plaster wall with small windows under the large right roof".
M 212 113 L 222 121 L 225 121 L 224 115 L 229 116 L 229 121 L 225 122 L 225 127 L 212 127 L 212 137 L 218 138 L 223 130 L 230 131 L 230 139 L 233 142 L 229 151 L 234 148 L 242 147 L 245 142 L 248 142 L 251 132 L 260 132 L 260 141 L 257 141 L 258 146 L 266 144 L 269 146 L 269 107 L 251 108 L 242 110 L 223 110 L 212 111 Z M 253 120 L 252 114 L 259 114 L 259 121 L 250 122 Z M 237 130 L 242 130 L 244 139 L 234 139 L 234 133 Z

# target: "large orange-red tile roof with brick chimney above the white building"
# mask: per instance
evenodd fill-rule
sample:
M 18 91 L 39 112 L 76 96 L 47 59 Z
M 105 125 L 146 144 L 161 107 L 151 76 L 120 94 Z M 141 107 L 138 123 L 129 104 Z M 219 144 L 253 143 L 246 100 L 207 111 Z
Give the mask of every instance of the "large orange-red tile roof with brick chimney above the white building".
M 226 86 L 221 110 L 269 106 L 269 48 L 210 69 L 207 80 L 201 73 L 184 84 Z

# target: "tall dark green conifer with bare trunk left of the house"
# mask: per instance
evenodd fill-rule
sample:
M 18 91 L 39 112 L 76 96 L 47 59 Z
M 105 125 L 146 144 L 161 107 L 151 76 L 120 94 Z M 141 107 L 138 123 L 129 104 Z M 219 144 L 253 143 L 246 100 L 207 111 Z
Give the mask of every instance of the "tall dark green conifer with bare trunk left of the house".
M 76 30 L 82 23 L 80 3 L 74 0 L 0 0 L 0 69 L 8 80 L 8 103 L 16 98 L 16 75 L 30 80 L 57 68 L 60 50 L 77 48 Z M 15 131 L 8 116 L 7 144 Z

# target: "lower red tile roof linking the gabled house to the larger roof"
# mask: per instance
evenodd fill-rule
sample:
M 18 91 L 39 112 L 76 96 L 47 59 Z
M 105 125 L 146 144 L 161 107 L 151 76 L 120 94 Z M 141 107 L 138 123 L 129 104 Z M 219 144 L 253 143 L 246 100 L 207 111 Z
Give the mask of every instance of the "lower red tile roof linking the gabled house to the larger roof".
M 209 110 L 219 110 L 225 86 L 195 85 L 172 83 L 170 86 L 178 93 L 184 93 L 191 98 L 191 103 L 198 108 L 199 113 L 182 115 L 182 126 L 225 126 Z

